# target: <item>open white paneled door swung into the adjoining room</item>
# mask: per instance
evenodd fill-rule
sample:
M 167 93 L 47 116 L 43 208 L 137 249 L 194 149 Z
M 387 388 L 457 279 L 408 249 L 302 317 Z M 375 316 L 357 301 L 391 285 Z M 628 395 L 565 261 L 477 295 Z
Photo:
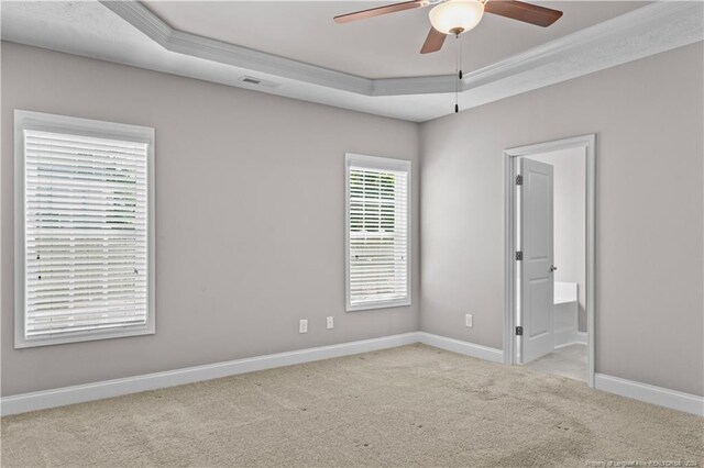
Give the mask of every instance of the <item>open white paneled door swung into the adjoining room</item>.
M 553 350 L 552 166 L 520 158 L 520 312 L 524 364 Z

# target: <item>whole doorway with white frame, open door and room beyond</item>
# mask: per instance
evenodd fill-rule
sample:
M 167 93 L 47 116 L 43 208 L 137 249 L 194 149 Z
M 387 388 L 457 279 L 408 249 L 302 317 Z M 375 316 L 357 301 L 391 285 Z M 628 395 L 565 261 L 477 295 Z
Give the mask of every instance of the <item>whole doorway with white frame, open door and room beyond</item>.
M 504 361 L 579 378 L 590 387 L 595 144 L 591 134 L 504 152 Z

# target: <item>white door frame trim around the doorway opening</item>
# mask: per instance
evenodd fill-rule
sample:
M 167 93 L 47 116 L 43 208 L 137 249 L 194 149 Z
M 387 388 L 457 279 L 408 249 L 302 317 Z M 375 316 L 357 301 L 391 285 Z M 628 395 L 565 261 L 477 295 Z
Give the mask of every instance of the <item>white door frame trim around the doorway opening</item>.
M 517 157 L 532 156 L 558 149 L 584 148 L 586 155 L 586 333 L 587 333 L 587 375 L 586 383 L 594 387 L 595 355 L 595 204 L 596 204 L 596 134 L 574 136 L 532 145 L 518 146 L 504 151 L 504 363 L 516 363 L 515 323 L 517 301 L 516 291 L 516 165 Z

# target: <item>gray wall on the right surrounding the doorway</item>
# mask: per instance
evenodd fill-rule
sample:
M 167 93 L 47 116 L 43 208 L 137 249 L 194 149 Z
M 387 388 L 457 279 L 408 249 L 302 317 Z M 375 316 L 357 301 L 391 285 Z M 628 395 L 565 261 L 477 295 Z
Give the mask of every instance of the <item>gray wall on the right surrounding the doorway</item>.
M 424 124 L 421 328 L 502 347 L 502 152 L 596 133 L 596 371 L 704 394 L 703 55 L 698 43 Z

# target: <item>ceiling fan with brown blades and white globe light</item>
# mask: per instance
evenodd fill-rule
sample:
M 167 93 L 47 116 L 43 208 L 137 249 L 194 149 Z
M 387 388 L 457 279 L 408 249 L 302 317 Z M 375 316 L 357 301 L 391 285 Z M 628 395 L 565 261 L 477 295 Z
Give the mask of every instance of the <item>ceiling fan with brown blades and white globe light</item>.
M 430 33 L 420 49 L 421 54 L 440 51 L 449 34 L 459 36 L 470 31 L 479 24 L 484 12 L 542 27 L 551 25 L 562 16 L 561 11 L 516 0 L 411 0 L 341 14 L 334 16 L 334 21 L 349 23 L 430 5 L 433 5 L 429 12 L 432 27 L 430 27 Z

